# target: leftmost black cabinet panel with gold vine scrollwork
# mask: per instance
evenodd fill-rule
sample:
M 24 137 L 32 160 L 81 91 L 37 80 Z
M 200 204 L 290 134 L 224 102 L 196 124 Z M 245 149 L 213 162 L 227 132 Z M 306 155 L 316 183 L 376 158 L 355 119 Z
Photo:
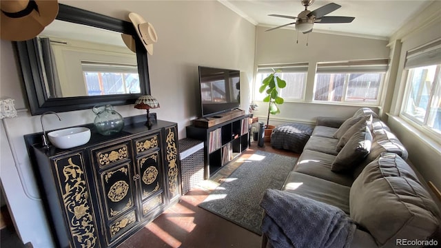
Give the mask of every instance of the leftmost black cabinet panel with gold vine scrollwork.
M 52 159 L 70 247 L 99 247 L 96 216 L 84 169 L 83 153 Z

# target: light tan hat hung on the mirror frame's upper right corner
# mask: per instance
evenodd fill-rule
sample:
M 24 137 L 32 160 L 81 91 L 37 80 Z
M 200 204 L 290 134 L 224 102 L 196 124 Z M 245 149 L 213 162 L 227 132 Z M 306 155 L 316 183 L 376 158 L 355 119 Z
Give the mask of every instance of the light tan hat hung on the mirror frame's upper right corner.
M 156 35 L 156 30 L 152 24 L 148 23 L 141 17 L 139 14 L 131 12 L 129 14 L 130 21 L 132 21 L 136 33 L 139 36 L 139 39 L 143 41 L 145 49 L 149 52 L 150 55 L 153 54 L 153 43 L 158 41 L 158 36 Z M 127 43 L 126 43 L 127 44 Z

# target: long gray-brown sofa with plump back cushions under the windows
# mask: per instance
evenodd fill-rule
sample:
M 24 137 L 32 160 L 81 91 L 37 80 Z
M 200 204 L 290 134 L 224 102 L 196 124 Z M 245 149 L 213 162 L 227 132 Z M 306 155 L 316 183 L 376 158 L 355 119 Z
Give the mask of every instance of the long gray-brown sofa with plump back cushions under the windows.
M 349 247 L 397 247 L 397 240 L 438 238 L 440 211 L 407 156 L 369 108 L 346 120 L 319 117 L 282 190 L 344 211 L 356 225 Z M 268 216 L 268 207 L 264 210 Z M 263 230 L 263 247 L 283 247 L 274 232 L 285 235 L 290 228 Z

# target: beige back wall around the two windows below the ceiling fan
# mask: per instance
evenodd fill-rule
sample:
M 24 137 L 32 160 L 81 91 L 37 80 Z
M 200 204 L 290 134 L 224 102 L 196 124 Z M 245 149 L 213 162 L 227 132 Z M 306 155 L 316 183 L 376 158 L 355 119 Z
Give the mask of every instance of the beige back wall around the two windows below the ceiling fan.
M 309 63 L 305 103 L 285 102 L 280 105 L 280 114 L 269 117 L 269 122 L 276 125 L 287 121 L 314 123 L 316 116 L 349 117 L 359 108 L 311 103 L 316 63 L 389 57 L 388 42 L 384 40 L 311 32 L 309 37 L 299 34 L 296 43 L 295 30 L 278 29 L 265 32 L 267 29 L 257 27 L 256 66 L 271 63 Z M 259 105 L 256 116 L 265 122 L 268 104 L 260 101 L 256 103 Z

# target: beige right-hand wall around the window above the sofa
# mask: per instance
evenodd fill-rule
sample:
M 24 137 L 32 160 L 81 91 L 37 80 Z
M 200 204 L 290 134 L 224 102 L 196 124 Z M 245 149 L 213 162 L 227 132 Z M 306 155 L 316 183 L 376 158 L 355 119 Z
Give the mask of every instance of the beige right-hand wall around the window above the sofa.
M 403 72 L 407 51 L 441 38 L 441 1 L 434 1 L 423 12 L 425 14 L 422 17 L 416 17 L 411 25 L 402 27 L 391 37 L 392 44 L 398 43 L 400 56 L 394 61 L 398 65 L 398 73 L 394 82 L 395 87 L 390 95 L 393 100 L 391 105 L 385 108 L 390 108 L 389 127 L 407 148 L 409 160 L 425 180 L 431 180 L 438 189 L 441 189 L 441 144 L 435 141 L 438 139 L 439 142 L 440 137 L 424 135 L 397 117 L 400 114 L 406 84 Z

